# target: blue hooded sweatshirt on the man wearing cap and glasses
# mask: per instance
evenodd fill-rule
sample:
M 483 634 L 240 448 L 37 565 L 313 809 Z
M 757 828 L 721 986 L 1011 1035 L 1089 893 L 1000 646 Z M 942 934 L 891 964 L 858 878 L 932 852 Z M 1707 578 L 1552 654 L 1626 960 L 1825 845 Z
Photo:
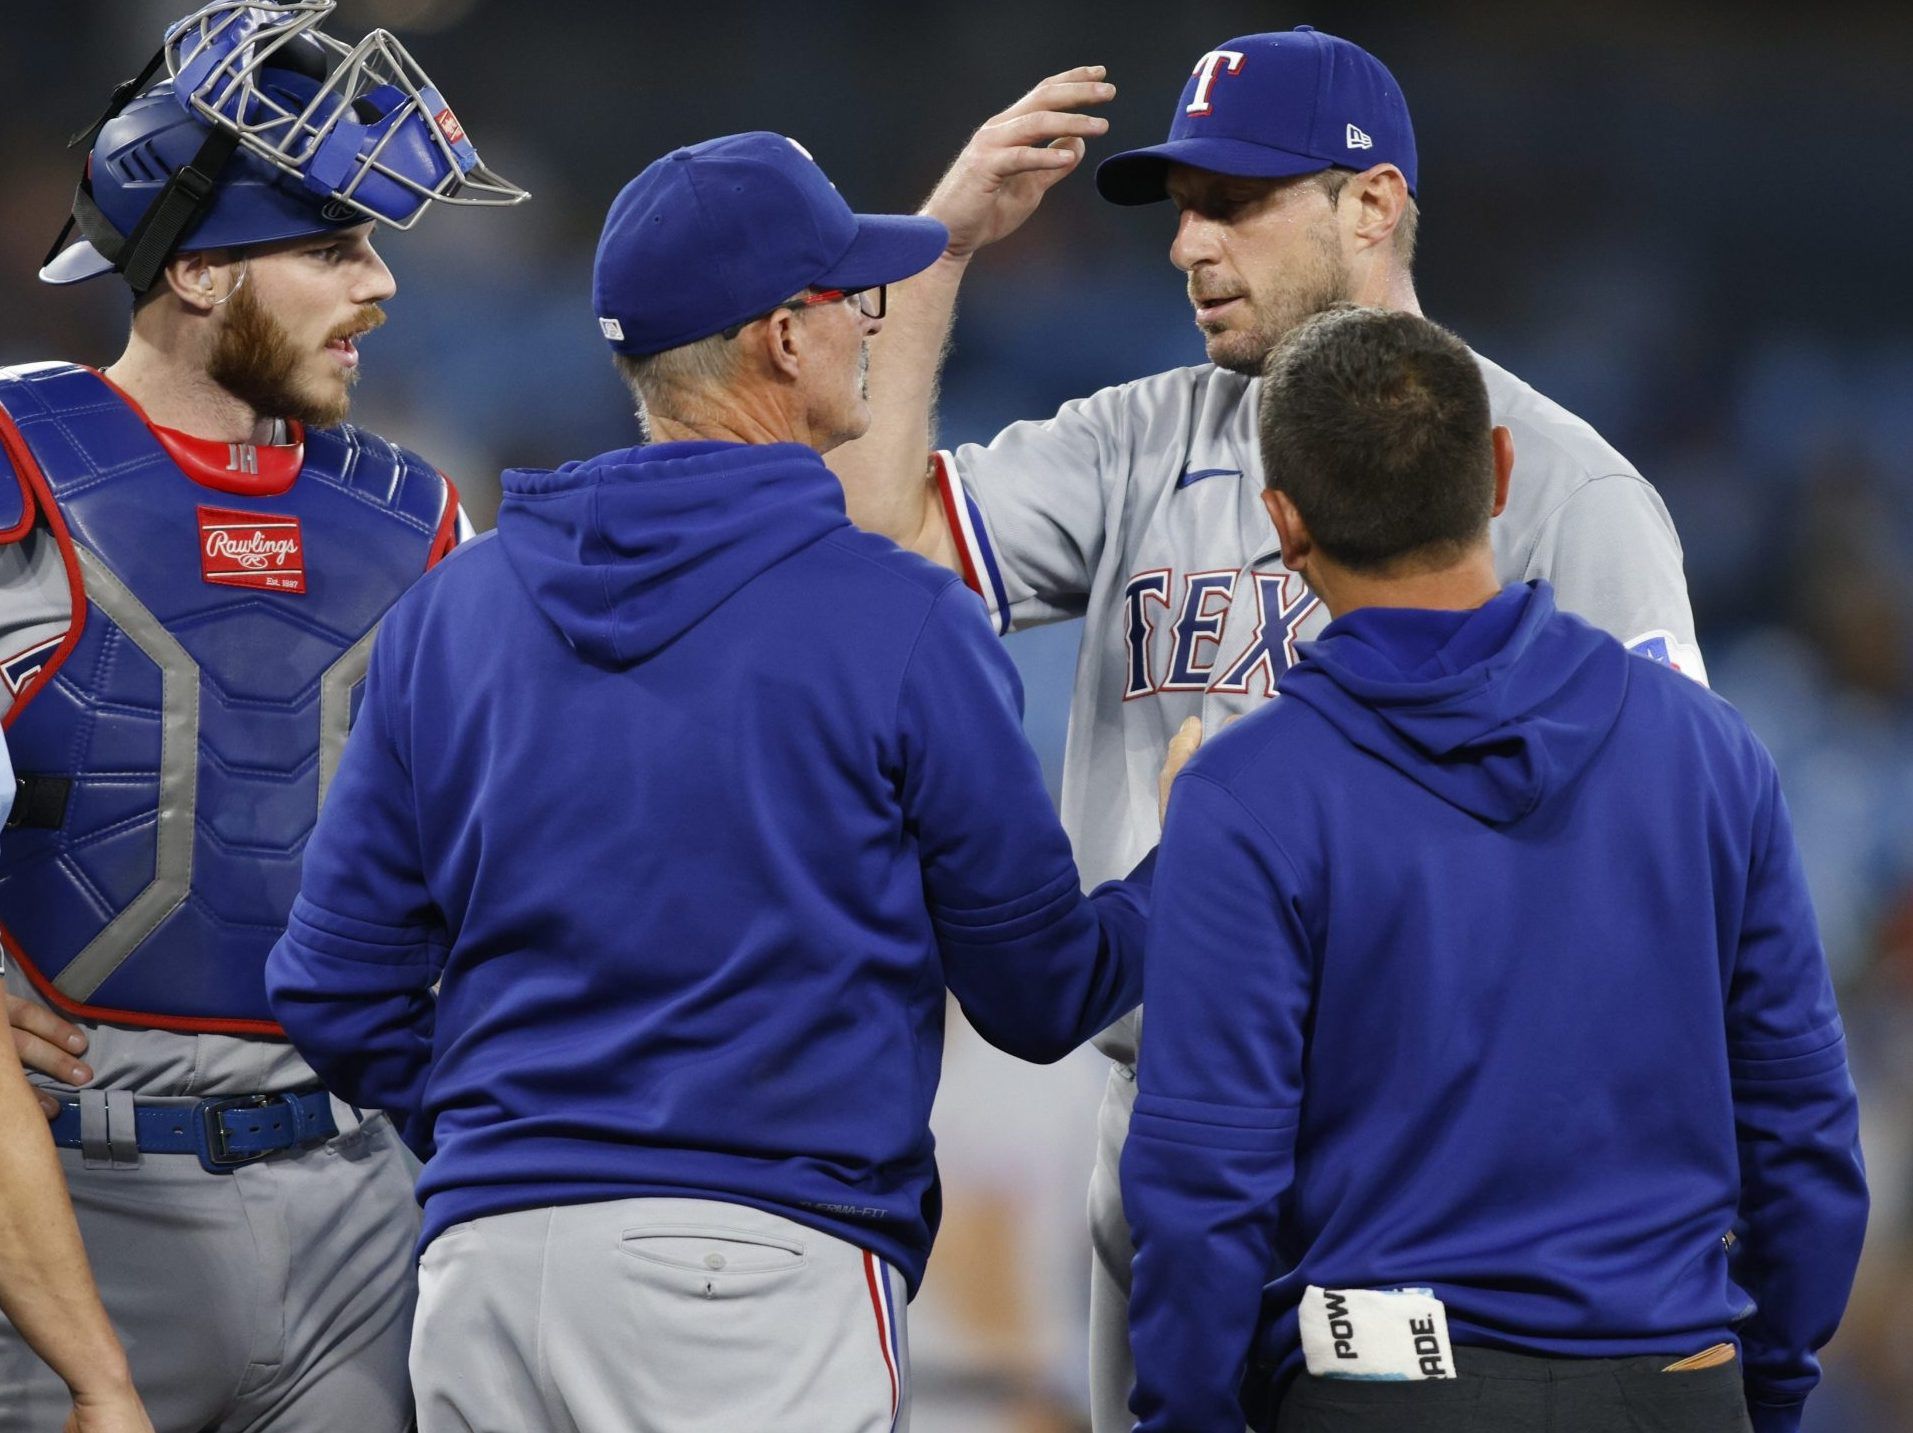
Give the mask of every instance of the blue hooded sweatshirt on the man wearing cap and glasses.
M 945 987 L 1029 1060 L 1142 995 L 1140 890 L 1083 895 L 1020 706 L 809 448 L 507 473 L 385 620 L 274 1014 L 427 1156 L 425 1242 L 714 1198 L 914 1290 Z

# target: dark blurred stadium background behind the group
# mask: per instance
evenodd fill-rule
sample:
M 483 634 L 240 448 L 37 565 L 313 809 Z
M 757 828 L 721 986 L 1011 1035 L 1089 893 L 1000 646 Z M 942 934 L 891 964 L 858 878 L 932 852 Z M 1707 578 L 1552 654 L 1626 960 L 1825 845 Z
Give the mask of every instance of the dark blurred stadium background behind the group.
M 109 362 L 113 281 L 33 281 L 65 138 L 187 0 L 8 0 L 0 362 Z M 859 209 L 914 209 L 1037 78 L 1106 63 L 1111 132 L 1154 142 L 1196 57 L 1312 23 L 1383 57 L 1421 147 L 1431 318 L 1599 427 L 1660 488 L 1714 687 L 1773 748 L 1840 981 L 1875 1215 L 1808 1427 L 1913 1429 L 1913 17 L 1903 4 L 1245 0 L 342 0 L 396 31 L 486 159 L 534 191 L 381 249 L 396 320 L 354 417 L 415 446 L 488 526 L 505 465 L 633 440 L 589 312 L 616 189 L 666 149 L 775 128 Z M 943 438 L 1199 362 L 1167 210 L 1067 182 L 972 268 Z M 1075 628 L 1012 639 L 1062 761 Z M 474 652 L 473 660 L 486 660 Z M 1599 880 L 1599 872 L 1590 872 Z M 997 1056 L 953 1020 L 937 1108 L 947 1223 L 911 1312 L 918 1433 L 1083 1422 L 1081 1224 L 1102 1062 Z

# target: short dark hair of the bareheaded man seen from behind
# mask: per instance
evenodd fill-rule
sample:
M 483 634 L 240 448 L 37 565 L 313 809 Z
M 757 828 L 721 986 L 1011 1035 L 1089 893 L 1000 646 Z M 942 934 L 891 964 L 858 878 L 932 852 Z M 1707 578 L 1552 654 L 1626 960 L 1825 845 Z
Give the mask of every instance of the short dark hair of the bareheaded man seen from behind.
M 1263 473 L 1316 547 L 1362 572 L 1444 566 L 1494 517 L 1494 423 L 1475 356 L 1414 314 L 1335 304 L 1263 367 Z

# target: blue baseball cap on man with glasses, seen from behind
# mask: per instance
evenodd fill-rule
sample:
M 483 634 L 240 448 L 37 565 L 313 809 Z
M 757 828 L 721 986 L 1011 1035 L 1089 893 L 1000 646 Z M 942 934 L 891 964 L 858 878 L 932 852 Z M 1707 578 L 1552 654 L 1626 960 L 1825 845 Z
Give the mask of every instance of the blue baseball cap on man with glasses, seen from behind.
M 805 289 L 874 289 L 930 268 L 934 218 L 853 214 L 796 140 L 763 130 L 673 149 L 612 201 L 591 304 L 620 354 L 662 354 Z

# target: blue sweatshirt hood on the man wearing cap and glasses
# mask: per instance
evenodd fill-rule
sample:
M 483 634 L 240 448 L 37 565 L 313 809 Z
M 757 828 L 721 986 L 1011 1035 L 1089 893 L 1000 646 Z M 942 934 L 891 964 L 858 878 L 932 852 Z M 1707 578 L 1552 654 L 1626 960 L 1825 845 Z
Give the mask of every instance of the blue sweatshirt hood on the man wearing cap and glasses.
M 599 666 L 670 647 L 765 568 L 849 526 L 802 444 L 666 442 L 509 469 L 497 541 L 564 639 Z

